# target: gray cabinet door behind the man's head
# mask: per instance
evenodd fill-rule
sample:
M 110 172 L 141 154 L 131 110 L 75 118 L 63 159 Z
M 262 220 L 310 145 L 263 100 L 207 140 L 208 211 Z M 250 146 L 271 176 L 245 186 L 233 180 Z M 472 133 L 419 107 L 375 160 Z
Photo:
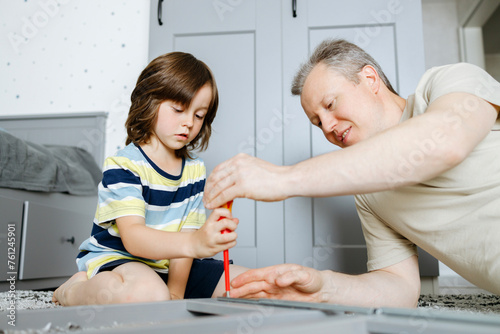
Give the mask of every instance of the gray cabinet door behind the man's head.
M 337 149 L 313 128 L 299 98 L 289 93 L 299 65 L 326 38 L 344 38 L 370 53 L 402 97 L 424 72 L 418 1 L 297 2 L 297 16 L 283 2 L 284 104 L 292 121 L 284 131 L 284 163 Z M 285 201 L 285 261 L 318 269 L 366 272 L 366 246 L 352 196 Z

